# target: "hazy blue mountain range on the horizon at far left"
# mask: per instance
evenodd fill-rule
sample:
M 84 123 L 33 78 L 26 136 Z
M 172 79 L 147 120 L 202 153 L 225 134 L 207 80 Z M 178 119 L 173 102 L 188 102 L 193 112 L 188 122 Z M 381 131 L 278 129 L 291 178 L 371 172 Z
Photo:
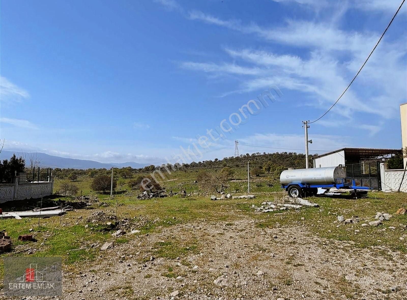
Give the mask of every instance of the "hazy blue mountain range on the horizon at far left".
M 0 159 L 9 159 L 15 155 L 21 155 L 21 152 L 18 151 L 7 151 L 3 150 L 0 153 Z M 31 152 L 34 153 L 34 152 Z M 23 156 L 26 159 L 26 164 L 29 163 L 28 153 L 23 152 Z M 41 152 L 37 152 L 37 159 L 41 162 L 41 165 L 44 167 L 51 167 L 51 168 L 71 168 L 71 169 L 101 169 L 106 168 L 109 169 L 110 167 L 132 167 L 132 168 L 142 168 L 147 165 L 151 165 L 149 163 L 135 163 L 134 161 L 129 161 L 127 163 L 100 163 L 98 161 L 88 161 L 83 159 L 71 159 L 66 157 L 59 157 L 54 155 L 49 155 Z

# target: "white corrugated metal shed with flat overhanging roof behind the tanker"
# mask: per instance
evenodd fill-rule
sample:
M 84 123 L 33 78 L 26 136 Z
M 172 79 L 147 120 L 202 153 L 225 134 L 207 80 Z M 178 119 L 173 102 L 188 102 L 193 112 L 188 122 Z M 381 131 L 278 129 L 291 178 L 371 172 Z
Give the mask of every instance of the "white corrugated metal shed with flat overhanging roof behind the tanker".
M 379 160 L 400 153 L 400 149 L 342 148 L 314 157 L 314 168 L 336 167 L 362 161 Z

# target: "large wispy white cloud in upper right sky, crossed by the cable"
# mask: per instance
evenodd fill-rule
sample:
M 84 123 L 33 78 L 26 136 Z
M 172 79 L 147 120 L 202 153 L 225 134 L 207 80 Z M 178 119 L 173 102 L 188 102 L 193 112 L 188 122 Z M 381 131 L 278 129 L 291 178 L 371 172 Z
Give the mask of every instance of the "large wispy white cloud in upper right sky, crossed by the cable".
M 317 3 L 311 0 L 299 2 Z M 341 13 L 333 14 L 336 14 L 335 17 L 343 17 Z M 244 34 L 256 34 L 267 41 L 292 48 L 306 48 L 309 52 L 302 50 L 300 57 L 298 54 L 275 54 L 265 50 L 225 48 L 234 59 L 233 64 L 189 61 L 182 63 L 181 67 L 217 76 L 240 76 L 237 77 L 243 82 L 240 89 L 225 92 L 223 96 L 264 89 L 275 84 L 280 89 L 308 94 L 304 105 L 315 106 L 321 111 L 328 109 L 344 91 L 379 39 L 379 33 L 339 29 L 337 22 L 289 20 L 279 28 L 264 28 L 255 23 L 243 25 L 239 20 L 221 20 L 199 11 L 191 12 L 189 18 Z M 396 104 L 406 99 L 406 42 L 405 35 L 391 42 L 383 39 L 357 81 L 333 108 L 332 113 L 348 119 L 355 112 L 383 118 L 395 116 L 398 108 Z M 319 117 L 319 113 L 315 114 L 316 117 Z

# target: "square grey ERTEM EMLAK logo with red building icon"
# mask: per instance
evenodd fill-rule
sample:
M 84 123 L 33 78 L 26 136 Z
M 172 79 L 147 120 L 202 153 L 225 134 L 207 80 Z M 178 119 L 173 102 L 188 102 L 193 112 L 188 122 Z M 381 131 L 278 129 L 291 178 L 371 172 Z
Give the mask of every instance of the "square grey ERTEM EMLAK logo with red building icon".
M 4 296 L 61 296 L 61 257 L 4 258 Z

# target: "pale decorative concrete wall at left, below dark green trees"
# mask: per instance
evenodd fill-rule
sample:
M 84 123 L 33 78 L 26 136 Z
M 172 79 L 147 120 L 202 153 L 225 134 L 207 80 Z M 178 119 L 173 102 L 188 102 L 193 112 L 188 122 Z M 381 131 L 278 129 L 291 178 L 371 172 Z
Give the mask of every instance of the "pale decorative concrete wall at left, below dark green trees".
M 54 176 L 48 181 L 33 183 L 19 183 L 20 178 L 14 179 L 14 184 L 0 184 L 0 203 L 11 200 L 24 200 L 50 196 L 53 193 Z

